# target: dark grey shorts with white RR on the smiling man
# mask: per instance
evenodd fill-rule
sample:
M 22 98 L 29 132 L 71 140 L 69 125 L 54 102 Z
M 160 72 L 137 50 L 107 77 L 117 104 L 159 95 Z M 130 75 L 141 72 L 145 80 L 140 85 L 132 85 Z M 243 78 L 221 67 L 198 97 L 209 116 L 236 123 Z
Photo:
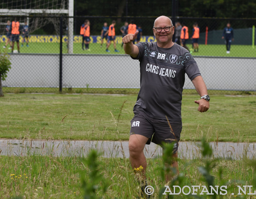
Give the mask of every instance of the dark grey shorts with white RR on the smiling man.
M 150 117 L 142 108 L 134 111 L 134 117 L 131 120 L 130 135 L 140 134 L 148 138 L 146 144 L 154 142 L 161 146 L 164 142 L 176 142 L 173 151 L 178 151 L 178 142 L 182 130 L 182 122 L 170 121 L 171 128 L 166 119 L 154 119 Z

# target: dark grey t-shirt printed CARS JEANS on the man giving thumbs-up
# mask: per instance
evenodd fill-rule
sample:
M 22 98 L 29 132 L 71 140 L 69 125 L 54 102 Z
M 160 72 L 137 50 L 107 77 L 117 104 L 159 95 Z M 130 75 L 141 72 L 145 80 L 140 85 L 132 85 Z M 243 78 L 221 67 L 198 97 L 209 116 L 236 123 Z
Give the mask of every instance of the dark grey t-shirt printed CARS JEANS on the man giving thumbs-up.
M 156 119 L 181 120 L 185 73 L 190 80 L 201 75 L 196 61 L 185 48 L 174 43 L 160 48 L 156 42 L 136 44 L 140 61 L 140 92 L 133 110 L 141 107 Z

